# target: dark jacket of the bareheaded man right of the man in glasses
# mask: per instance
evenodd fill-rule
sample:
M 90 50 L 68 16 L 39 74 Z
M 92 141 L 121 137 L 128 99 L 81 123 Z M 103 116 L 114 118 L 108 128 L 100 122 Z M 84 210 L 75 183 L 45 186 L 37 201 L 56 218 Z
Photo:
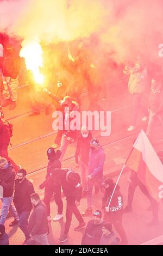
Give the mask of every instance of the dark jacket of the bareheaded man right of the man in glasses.
M 29 233 L 31 235 L 42 235 L 49 232 L 47 221 L 47 210 L 43 202 L 39 202 L 29 218 Z

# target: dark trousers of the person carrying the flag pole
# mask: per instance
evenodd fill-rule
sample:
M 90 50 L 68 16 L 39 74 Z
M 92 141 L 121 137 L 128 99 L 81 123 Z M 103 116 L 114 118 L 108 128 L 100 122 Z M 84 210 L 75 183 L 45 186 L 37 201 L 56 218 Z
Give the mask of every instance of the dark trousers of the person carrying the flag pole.
M 114 225 L 115 229 L 117 230 L 118 234 L 121 237 L 122 242 L 127 242 L 127 235 L 122 226 L 122 215 L 117 214 L 105 214 L 104 215 L 104 222 L 110 222 Z

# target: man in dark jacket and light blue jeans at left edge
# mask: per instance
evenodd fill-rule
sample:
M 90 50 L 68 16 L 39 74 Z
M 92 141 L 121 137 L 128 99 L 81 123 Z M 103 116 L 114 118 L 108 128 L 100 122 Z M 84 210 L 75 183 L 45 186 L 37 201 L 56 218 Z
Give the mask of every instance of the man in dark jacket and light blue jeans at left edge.
M 2 208 L 0 224 L 5 223 L 8 216 L 8 211 L 18 221 L 17 212 L 12 206 L 13 192 L 14 192 L 15 172 L 10 164 L 4 157 L 0 159 L 0 186 L 3 188 Z

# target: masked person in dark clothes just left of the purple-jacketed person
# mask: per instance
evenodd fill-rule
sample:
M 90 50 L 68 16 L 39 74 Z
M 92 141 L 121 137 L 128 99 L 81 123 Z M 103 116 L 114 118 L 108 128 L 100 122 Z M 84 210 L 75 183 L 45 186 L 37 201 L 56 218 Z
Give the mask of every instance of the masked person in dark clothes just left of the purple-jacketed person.
M 82 126 L 81 133 L 78 137 L 77 148 L 75 153 L 76 164 L 79 164 L 80 174 L 83 185 L 83 197 L 87 195 L 86 189 L 86 172 L 89 163 L 89 151 L 92 134 L 86 126 Z M 80 158 L 80 160 L 79 160 Z

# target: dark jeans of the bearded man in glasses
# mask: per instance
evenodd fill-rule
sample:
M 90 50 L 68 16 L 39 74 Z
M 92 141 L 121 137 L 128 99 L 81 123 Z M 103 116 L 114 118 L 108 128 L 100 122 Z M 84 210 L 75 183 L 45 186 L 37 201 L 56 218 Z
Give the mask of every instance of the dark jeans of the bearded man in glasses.
M 24 235 L 26 236 L 26 239 L 29 239 L 29 230 L 28 230 L 28 218 L 30 215 L 30 211 L 23 211 L 20 214 L 18 214 L 19 221 L 18 221 L 18 227 L 23 231 Z

